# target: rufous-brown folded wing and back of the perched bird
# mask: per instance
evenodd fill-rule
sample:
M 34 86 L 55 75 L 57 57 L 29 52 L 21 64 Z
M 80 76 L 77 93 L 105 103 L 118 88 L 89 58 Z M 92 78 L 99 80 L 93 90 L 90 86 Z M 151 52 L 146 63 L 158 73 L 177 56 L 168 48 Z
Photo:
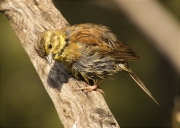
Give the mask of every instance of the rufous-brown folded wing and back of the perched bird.
M 117 61 L 140 59 L 129 46 L 118 41 L 105 26 L 82 24 L 73 26 L 69 30 L 66 29 L 67 35 L 71 37 L 72 42 L 82 46 L 82 54 L 98 53 L 100 56 L 112 56 Z

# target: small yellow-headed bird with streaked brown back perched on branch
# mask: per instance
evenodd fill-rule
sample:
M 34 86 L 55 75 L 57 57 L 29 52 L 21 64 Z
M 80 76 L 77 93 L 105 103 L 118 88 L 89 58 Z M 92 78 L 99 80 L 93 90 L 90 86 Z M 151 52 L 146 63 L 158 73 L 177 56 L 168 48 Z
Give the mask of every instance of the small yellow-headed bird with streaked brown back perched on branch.
M 84 23 L 46 30 L 40 34 L 37 51 L 49 63 L 52 60 L 63 63 L 75 78 L 88 84 L 79 90 L 97 90 L 103 80 L 118 71 L 125 71 L 158 104 L 128 66 L 129 61 L 139 60 L 140 57 L 106 26 Z

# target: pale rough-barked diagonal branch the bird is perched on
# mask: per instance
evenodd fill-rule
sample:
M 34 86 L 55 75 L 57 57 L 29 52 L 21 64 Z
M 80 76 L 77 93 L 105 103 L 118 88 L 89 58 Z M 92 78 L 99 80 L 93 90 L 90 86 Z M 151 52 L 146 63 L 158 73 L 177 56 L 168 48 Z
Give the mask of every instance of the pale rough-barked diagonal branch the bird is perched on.
M 77 91 L 83 83 L 58 62 L 48 64 L 35 45 L 41 32 L 68 25 L 51 0 L 1 0 L 4 13 L 34 65 L 65 128 L 119 128 L 101 93 Z

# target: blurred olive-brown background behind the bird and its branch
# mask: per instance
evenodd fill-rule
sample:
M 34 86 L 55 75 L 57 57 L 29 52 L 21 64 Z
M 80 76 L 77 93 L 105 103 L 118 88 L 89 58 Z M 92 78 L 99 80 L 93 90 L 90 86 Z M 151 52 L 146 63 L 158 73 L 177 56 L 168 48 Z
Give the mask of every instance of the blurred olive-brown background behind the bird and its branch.
M 106 80 L 100 87 L 121 127 L 172 126 L 174 99 L 179 95 L 180 2 L 153 2 L 54 0 L 70 24 L 108 26 L 141 57 L 129 65 L 160 106 L 127 73 L 119 72 L 114 80 Z M 39 76 L 2 13 L 0 55 L 0 126 L 63 128 Z

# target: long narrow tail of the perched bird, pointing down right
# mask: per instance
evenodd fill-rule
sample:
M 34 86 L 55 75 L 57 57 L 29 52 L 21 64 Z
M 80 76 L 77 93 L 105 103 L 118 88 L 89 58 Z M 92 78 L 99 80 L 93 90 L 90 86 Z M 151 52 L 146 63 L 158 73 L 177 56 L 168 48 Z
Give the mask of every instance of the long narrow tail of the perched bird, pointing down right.
M 154 100 L 154 102 L 156 102 L 157 105 L 159 105 L 159 103 L 155 100 L 155 98 L 152 96 L 152 94 L 149 92 L 149 90 L 146 88 L 146 86 L 143 84 L 143 82 L 138 78 L 138 76 L 128 67 L 128 65 L 126 63 L 121 63 L 119 64 L 119 66 L 125 70 L 132 78 L 133 80 L 146 92 L 146 94 L 151 97 L 152 100 Z

